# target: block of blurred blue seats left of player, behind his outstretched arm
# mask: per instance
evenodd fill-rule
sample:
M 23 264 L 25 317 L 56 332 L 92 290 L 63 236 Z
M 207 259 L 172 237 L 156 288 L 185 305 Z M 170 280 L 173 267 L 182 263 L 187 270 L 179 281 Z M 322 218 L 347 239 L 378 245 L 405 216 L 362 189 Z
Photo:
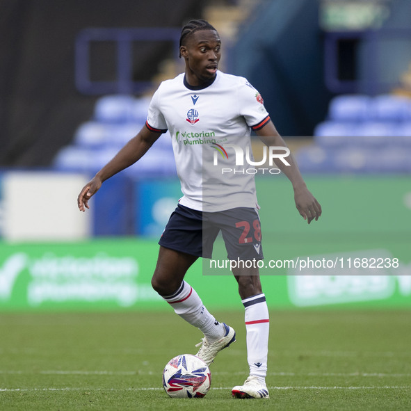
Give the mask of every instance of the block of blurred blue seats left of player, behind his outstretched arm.
M 79 125 L 72 145 L 63 147 L 56 155 L 54 168 L 97 172 L 144 126 L 149 104 L 150 98 L 129 95 L 108 95 L 98 99 L 93 118 Z M 163 134 L 126 172 L 136 178 L 176 175 L 170 134 Z

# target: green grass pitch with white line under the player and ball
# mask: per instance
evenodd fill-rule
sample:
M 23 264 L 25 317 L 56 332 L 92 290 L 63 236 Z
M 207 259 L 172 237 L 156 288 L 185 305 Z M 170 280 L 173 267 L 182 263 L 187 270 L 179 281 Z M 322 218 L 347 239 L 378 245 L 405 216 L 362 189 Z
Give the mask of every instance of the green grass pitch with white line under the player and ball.
M 217 312 L 237 341 L 205 398 L 168 398 L 163 366 L 202 337 L 168 312 L 0 314 L 0 410 L 410 410 L 410 311 L 271 312 L 268 400 L 248 376 L 243 309 Z

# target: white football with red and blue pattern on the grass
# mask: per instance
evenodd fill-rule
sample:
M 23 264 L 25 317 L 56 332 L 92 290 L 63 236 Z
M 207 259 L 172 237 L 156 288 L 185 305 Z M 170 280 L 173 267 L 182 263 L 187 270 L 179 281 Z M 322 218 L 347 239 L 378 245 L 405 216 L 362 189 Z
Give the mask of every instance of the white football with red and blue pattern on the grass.
M 164 367 L 163 387 L 172 398 L 201 398 L 210 386 L 209 367 L 195 355 L 177 355 Z

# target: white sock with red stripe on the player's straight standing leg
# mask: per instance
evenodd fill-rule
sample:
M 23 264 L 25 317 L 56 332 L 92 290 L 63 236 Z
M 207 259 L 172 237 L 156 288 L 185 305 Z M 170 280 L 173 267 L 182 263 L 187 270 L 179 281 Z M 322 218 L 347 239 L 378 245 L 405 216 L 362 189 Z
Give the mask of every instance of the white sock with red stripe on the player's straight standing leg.
M 257 294 L 241 300 L 245 307 L 247 330 L 247 360 L 250 376 L 265 385 L 267 375 L 268 332 L 270 329 L 266 296 Z

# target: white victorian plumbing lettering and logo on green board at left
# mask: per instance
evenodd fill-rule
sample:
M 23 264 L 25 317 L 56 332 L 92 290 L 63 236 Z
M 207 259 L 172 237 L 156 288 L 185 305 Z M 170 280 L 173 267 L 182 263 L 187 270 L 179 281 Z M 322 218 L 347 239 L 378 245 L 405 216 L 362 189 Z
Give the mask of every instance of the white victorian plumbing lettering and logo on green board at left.
M 61 257 L 52 252 L 30 257 L 17 252 L 0 263 L 0 303 L 11 300 L 13 290 L 26 294 L 31 306 L 81 300 L 128 307 L 138 300 L 155 299 L 150 284 L 137 284 L 137 277 L 138 262 L 132 257 L 104 253 Z

